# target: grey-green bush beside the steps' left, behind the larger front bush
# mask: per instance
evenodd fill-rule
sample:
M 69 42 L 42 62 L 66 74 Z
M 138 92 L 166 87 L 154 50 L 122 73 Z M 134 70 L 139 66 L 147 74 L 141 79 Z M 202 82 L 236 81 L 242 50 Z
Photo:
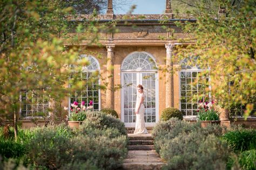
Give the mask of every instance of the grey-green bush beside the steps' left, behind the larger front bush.
M 83 123 L 85 126 L 92 129 L 115 128 L 118 129 L 121 134 L 126 134 L 125 125 L 120 119 L 103 114 L 100 111 L 88 111 L 86 114 L 87 119 Z

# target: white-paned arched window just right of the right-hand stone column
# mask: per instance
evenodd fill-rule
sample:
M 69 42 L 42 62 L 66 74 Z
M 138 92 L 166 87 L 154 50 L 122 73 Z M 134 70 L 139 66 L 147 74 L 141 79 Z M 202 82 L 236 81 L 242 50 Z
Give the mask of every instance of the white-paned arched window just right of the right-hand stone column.
M 198 102 L 210 98 L 210 94 L 205 93 L 209 77 L 202 74 L 206 69 L 201 69 L 198 63 L 198 56 L 180 62 L 180 109 L 184 116 L 197 116 Z

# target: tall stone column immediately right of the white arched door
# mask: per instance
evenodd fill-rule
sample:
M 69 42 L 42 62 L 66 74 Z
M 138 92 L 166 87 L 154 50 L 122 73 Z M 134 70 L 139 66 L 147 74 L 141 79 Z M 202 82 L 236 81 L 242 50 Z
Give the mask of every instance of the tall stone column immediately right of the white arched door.
M 166 44 L 166 79 L 165 79 L 165 107 L 174 107 L 174 87 L 173 87 L 173 62 L 172 51 L 174 44 Z

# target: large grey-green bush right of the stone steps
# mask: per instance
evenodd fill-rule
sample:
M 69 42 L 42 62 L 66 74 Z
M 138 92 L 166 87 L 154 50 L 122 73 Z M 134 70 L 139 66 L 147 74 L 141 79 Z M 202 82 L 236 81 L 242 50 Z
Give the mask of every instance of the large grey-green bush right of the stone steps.
M 164 169 L 225 169 L 229 151 L 219 125 L 201 128 L 171 118 L 153 129 L 154 148 L 167 161 Z

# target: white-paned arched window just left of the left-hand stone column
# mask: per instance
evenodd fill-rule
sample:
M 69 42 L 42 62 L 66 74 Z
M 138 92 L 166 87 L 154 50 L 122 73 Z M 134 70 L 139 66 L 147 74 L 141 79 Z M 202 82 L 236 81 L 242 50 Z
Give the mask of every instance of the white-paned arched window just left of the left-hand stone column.
M 98 74 L 93 74 L 94 72 L 99 72 L 99 62 L 95 57 L 91 55 L 79 55 L 80 58 L 87 58 L 90 61 L 88 66 L 82 67 L 82 72 L 77 74 L 85 82 L 86 86 L 82 87 L 75 91 L 75 93 L 70 94 L 69 98 L 69 108 L 73 102 L 78 102 L 78 105 L 85 102 L 85 105 L 88 106 L 89 102 L 93 101 L 93 110 L 100 109 L 100 89 L 99 89 L 99 77 Z M 76 73 L 73 73 L 76 74 Z M 70 84 L 72 86 L 72 84 Z

